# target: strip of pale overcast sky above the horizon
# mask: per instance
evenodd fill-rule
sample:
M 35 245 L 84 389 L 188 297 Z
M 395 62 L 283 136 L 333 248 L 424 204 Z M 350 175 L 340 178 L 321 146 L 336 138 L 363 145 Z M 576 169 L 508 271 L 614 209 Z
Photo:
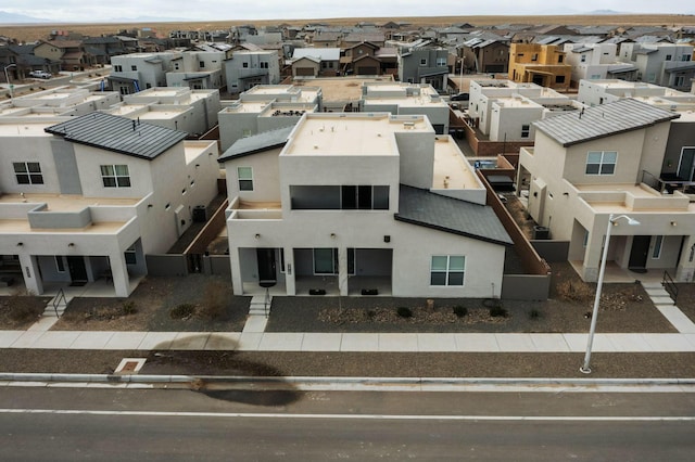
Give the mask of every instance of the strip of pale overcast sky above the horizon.
M 291 20 L 464 15 L 621 13 L 695 14 L 687 0 L 0 0 L 0 11 L 56 22 L 101 22 L 139 16 L 190 21 Z M 397 16 L 395 16 L 397 14 Z

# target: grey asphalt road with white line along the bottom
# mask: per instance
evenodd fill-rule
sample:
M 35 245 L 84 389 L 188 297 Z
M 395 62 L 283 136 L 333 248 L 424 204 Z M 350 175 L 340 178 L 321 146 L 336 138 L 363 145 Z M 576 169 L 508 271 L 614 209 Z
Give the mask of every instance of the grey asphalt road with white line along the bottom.
M 2 387 L 2 460 L 692 460 L 695 393 Z

